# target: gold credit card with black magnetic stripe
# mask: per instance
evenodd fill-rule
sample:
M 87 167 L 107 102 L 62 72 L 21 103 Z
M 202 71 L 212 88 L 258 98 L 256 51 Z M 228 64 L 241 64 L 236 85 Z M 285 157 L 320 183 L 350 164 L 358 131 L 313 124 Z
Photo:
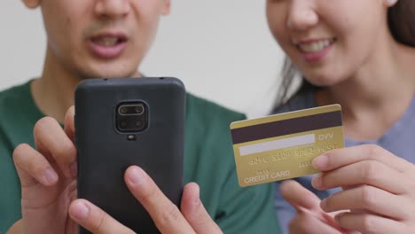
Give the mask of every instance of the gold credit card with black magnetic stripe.
M 232 122 L 231 136 L 242 187 L 316 174 L 311 160 L 344 147 L 341 106 Z

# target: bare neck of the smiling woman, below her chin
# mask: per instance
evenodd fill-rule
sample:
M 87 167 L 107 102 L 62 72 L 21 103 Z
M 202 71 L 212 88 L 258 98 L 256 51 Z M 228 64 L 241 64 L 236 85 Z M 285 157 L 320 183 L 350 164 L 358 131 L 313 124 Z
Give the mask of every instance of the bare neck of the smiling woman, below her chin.
M 390 39 L 393 40 L 393 39 Z M 345 82 L 317 94 L 319 104 L 339 103 L 346 136 L 376 139 L 385 134 L 411 104 L 415 94 L 415 50 L 388 43 Z

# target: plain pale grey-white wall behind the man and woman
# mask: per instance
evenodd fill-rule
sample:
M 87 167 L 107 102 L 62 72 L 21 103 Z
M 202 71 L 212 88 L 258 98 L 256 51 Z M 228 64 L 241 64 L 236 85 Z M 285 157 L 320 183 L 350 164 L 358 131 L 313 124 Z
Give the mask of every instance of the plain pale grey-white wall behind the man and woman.
M 267 113 L 283 53 L 267 27 L 265 2 L 172 0 L 140 71 L 176 76 L 193 94 L 250 116 Z M 38 77 L 45 50 L 39 9 L 1 0 L 0 34 L 0 90 Z

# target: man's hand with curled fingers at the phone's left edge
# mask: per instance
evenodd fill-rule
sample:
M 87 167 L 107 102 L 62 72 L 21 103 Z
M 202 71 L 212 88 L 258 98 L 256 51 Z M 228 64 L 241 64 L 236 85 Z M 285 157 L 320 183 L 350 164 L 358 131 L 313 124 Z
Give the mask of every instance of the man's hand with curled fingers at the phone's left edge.
M 13 152 L 21 184 L 23 233 L 77 233 L 67 210 L 76 198 L 74 108 L 65 129 L 45 117 L 34 129 L 36 149 L 20 144 Z

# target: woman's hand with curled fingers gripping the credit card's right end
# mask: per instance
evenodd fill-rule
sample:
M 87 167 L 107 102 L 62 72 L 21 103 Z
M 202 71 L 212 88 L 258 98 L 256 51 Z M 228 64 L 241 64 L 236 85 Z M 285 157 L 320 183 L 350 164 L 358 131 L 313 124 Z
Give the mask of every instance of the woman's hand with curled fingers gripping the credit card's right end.
M 320 203 L 341 212 L 344 229 L 362 233 L 415 232 L 415 167 L 376 145 L 326 152 L 313 160 L 323 173 L 312 180 L 318 190 L 343 187 Z

